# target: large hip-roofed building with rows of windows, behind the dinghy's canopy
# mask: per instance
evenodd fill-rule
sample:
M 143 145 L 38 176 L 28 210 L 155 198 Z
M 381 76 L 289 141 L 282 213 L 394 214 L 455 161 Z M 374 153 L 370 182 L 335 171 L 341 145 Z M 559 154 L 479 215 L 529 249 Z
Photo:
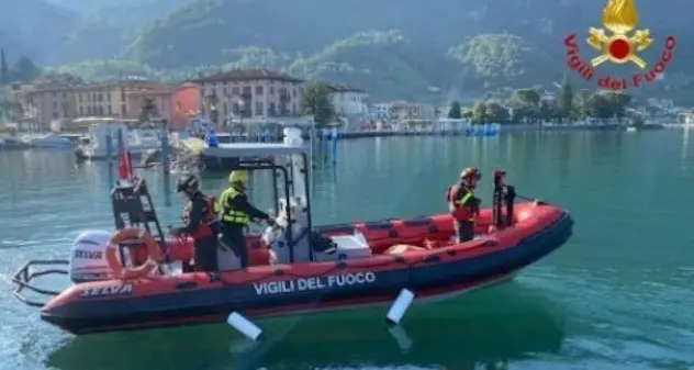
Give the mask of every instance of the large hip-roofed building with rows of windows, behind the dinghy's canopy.
M 268 69 L 234 69 L 193 81 L 203 114 L 227 119 L 301 114 L 303 80 Z

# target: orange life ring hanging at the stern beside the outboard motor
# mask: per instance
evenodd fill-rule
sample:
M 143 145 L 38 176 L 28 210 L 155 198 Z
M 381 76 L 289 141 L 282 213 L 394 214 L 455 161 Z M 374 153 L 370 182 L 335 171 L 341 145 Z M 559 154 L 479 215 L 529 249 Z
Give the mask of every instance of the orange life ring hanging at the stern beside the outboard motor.
M 126 240 L 138 239 L 147 248 L 147 261 L 138 267 L 125 268 L 119 260 L 119 245 Z M 139 228 L 123 228 L 113 233 L 107 246 L 107 262 L 113 271 L 114 279 L 137 279 L 144 278 L 156 270 L 158 261 L 161 259 L 161 249 L 154 237 Z

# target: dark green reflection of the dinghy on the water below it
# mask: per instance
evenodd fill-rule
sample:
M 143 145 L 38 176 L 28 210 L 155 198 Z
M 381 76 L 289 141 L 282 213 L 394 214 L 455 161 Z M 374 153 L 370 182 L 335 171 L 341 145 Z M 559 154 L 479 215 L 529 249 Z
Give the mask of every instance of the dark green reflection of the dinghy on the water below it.
M 51 354 L 47 365 L 70 370 L 201 369 L 203 365 L 237 370 L 403 365 L 505 369 L 508 360 L 558 351 L 563 338 L 562 310 L 541 292 L 513 282 L 456 302 L 413 307 L 403 322 L 407 338 L 389 332 L 384 312 L 264 321 L 260 325 L 269 339 L 257 345 L 222 325 L 78 337 Z

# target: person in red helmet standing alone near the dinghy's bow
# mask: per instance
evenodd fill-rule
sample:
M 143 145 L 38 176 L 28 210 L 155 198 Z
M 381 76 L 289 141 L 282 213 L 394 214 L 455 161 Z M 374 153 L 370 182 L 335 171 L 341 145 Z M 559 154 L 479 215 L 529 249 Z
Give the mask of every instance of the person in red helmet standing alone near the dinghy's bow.
M 460 181 L 448 188 L 448 208 L 454 216 L 454 228 L 458 243 L 474 238 L 475 218 L 480 213 L 480 199 L 474 197 L 474 188 L 482 178 L 475 167 L 468 167 L 460 172 Z

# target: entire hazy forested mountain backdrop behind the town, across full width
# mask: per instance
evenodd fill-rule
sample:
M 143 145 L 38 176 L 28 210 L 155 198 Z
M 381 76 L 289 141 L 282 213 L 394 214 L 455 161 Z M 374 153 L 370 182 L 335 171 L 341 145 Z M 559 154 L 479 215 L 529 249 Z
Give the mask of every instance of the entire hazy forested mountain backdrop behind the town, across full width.
M 46 1 L 53 5 L 44 0 L 0 0 L 0 7 L 13 11 L 0 11 L 0 46 L 11 49 L 10 55 L 36 55 L 40 63 L 54 65 L 125 58 L 122 65 L 128 71 L 139 64 L 143 72 L 164 76 L 177 70 L 179 77 L 201 66 L 204 70 L 270 67 L 358 85 L 383 99 L 548 86 L 567 72 L 562 41 L 568 34 L 578 33 L 585 59 L 594 56 L 583 40 L 589 27 L 601 26 L 606 2 Z M 657 61 L 667 35 L 678 37 L 675 58 L 659 86 L 667 91 L 693 90 L 694 65 L 689 60 L 694 57 L 694 34 L 689 32 L 689 10 L 694 2 L 636 1 L 640 27 L 650 29 L 654 37 L 643 54 L 649 63 Z M 18 13 L 26 4 L 41 8 L 29 21 Z M 46 10 L 56 4 L 65 11 Z M 18 24 L 35 24 L 31 22 L 51 24 L 55 31 L 34 38 L 13 32 Z M 117 65 L 108 64 L 111 69 Z M 92 75 L 102 74 L 93 66 L 89 65 Z M 605 68 L 601 70 L 609 70 Z

